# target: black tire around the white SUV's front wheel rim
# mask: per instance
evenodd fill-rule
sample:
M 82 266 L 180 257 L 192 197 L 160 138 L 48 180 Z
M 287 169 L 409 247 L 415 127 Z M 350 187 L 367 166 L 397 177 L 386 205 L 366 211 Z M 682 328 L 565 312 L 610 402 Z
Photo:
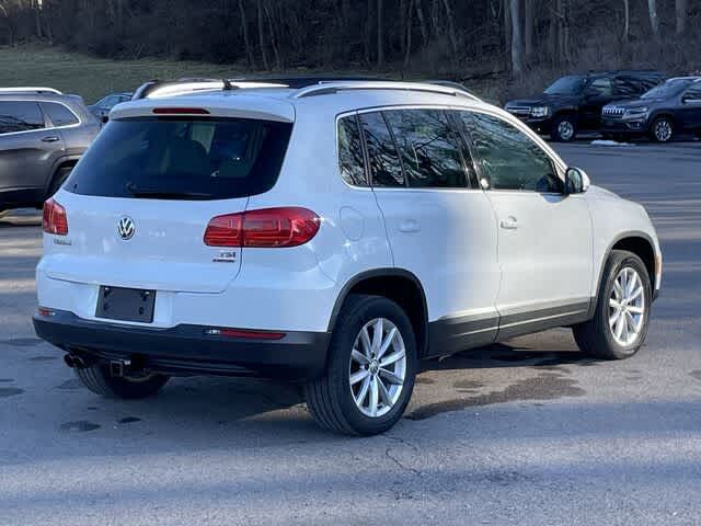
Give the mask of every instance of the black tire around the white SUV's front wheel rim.
M 628 345 L 619 344 L 613 335 L 613 330 L 609 324 L 610 307 L 609 299 L 613 289 L 613 282 L 619 273 L 630 267 L 634 270 L 643 286 L 643 321 L 640 333 Z M 650 323 L 650 311 L 652 306 L 652 285 L 647 268 L 643 261 L 632 252 L 614 250 L 611 252 L 599 285 L 596 311 L 594 318 L 585 323 L 572 328 L 574 339 L 579 348 L 597 358 L 623 359 L 633 356 L 645 341 Z

